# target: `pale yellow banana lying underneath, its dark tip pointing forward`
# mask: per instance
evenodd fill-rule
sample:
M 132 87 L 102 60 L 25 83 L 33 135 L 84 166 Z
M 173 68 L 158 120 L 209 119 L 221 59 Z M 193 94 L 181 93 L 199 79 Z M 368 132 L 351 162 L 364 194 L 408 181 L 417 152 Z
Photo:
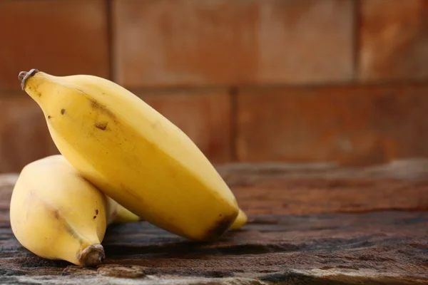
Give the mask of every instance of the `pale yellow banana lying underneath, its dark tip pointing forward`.
M 123 215 L 118 217 L 118 215 Z M 30 252 L 78 266 L 95 266 L 104 258 L 101 246 L 110 222 L 131 222 L 126 210 L 106 197 L 61 155 L 26 165 L 14 186 L 11 228 Z

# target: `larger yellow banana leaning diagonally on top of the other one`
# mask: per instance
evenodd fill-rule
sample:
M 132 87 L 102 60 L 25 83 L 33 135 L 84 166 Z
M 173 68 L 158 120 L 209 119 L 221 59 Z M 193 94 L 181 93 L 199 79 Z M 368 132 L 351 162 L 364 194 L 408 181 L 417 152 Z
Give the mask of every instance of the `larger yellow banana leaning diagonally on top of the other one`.
M 238 217 L 235 196 L 182 130 L 104 78 L 19 73 L 61 154 L 126 209 L 182 237 L 221 237 Z

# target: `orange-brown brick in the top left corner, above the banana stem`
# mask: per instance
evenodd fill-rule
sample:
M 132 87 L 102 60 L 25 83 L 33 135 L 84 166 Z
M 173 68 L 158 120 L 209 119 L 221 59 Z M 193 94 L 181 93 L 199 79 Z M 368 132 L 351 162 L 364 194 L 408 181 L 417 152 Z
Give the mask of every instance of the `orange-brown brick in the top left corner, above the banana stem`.
M 19 90 L 19 71 L 108 77 L 106 2 L 0 1 L 0 89 Z

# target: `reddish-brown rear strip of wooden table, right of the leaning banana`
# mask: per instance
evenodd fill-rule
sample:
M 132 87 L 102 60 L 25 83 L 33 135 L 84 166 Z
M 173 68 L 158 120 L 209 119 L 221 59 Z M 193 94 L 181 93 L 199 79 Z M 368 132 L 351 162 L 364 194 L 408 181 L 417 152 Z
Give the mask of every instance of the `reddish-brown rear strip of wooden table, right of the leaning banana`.
M 428 211 L 428 160 L 345 168 L 335 164 L 219 167 L 249 214 Z

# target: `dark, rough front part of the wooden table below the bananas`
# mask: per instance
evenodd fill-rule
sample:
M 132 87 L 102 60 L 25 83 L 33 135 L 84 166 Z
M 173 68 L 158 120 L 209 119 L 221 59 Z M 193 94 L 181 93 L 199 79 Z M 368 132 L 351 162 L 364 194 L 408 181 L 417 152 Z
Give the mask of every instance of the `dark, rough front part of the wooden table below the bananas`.
M 0 281 L 428 283 L 427 212 L 270 215 L 259 219 L 270 222 L 252 222 L 212 244 L 188 242 L 146 222 L 112 225 L 103 242 L 106 261 L 97 268 L 35 257 L 16 242 L 8 225 L 2 224 Z

